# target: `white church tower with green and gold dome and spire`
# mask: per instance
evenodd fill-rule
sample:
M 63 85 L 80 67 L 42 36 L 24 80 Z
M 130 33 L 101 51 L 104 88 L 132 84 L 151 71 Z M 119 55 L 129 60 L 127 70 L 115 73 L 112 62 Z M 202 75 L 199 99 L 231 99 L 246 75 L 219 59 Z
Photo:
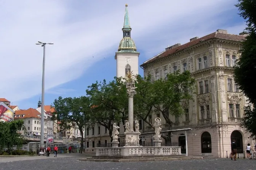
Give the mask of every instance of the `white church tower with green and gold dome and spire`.
M 128 15 L 128 5 L 125 5 L 125 20 L 123 22 L 123 39 L 119 43 L 118 51 L 115 53 L 117 60 L 117 77 L 125 77 L 128 72 L 139 74 L 139 52 L 135 42 L 131 39 L 131 27 Z

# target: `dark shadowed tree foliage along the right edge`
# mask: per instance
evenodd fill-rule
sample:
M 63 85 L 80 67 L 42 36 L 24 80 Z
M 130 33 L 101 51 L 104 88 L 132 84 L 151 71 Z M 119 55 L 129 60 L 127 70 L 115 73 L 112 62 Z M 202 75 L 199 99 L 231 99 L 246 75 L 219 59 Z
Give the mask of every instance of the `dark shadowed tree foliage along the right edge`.
M 254 82 L 256 72 L 256 1 L 238 0 L 235 5 L 240 11 L 240 16 L 246 20 L 247 27 L 244 33 L 247 34 L 245 41 L 242 42 L 240 58 L 234 69 L 235 82 L 240 86 L 239 89 L 248 98 L 251 104 L 244 109 L 244 119 L 242 127 L 251 133 L 252 138 L 256 138 L 256 111 L 251 106 L 256 106 L 256 86 Z

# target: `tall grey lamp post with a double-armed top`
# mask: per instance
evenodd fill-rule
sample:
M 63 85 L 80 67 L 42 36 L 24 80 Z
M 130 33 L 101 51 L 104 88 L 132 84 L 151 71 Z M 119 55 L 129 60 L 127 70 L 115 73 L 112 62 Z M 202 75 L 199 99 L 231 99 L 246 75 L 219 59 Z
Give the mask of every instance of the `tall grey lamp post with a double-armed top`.
M 37 45 L 42 45 L 43 47 L 43 73 L 42 73 L 42 103 L 41 103 L 41 137 L 40 137 L 40 147 L 43 147 L 44 144 L 44 125 L 45 125 L 45 45 L 46 44 L 53 44 L 53 43 L 45 43 L 45 42 L 40 42 L 36 43 Z M 46 139 L 47 140 L 47 139 Z

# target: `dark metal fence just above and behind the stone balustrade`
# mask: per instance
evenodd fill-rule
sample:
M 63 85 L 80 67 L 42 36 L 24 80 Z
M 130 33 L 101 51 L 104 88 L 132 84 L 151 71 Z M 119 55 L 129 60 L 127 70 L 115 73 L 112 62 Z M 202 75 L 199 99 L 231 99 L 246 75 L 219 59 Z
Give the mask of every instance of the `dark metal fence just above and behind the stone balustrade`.
M 128 145 L 125 145 L 126 143 L 118 143 L 118 147 L 123 147 L 123 146 L 155 146 L 154 143 L 149 142 L 149 143 L 127 143 Z M 112 147 L 112 143 L 97 143 L 97 148 L 108 148 Z M 178 142 L 161 142 L 161 146 L 179 146 Z

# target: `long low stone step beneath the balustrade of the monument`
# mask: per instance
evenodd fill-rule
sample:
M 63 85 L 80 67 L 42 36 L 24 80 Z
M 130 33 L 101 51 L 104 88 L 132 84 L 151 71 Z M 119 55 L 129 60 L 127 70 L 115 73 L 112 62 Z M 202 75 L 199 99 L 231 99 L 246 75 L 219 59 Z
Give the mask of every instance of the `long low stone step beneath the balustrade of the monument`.
M 147 158 L 137 158 L 137 159 L 79 159 L 79 161 L 94 161 L 94 162 L 146 162 L 146 161 L 176 161 L 176 160 L 197 160 L 203 159 L 202 156 L 192 156 L 192 157 L 147 157 Z

